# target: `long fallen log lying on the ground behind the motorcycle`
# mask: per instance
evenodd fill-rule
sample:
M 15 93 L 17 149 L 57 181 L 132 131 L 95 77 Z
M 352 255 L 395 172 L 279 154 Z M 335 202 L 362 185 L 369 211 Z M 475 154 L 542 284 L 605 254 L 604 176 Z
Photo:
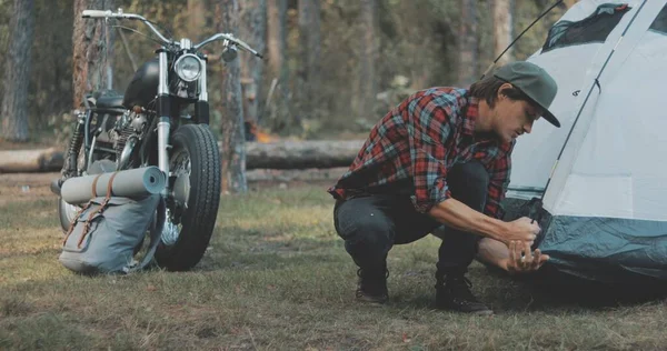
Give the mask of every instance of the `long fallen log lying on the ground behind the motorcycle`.
M 246 169 L 329 169 L 348 167 L 362 140 L 309 140 L 246 143 Z M 222 152 L 222 148 L 220 152 Z M 62 168 L 63 151 L 39 150 L 0 151 L 0 173 L 50 172 Z

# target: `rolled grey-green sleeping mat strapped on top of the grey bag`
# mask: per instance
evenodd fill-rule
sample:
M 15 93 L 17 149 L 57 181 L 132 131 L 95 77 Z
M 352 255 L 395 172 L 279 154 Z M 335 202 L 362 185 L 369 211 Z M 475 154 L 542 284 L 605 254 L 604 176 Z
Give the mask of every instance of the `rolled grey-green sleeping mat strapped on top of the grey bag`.
M 119 172 L 70 178 L 62 183 L 60 195 L 64 202 L 70 204 L 81 204 L 92 198 L 106 197 L 109 179 L 115 173 L 116 177 L 111 184 L 113 197 L 143 198 L 148 194 L 161 192 L 167 184 L 165 173 L 159 168 L 151 166 Z M 94 180 L 98 177 L 96 183 Z

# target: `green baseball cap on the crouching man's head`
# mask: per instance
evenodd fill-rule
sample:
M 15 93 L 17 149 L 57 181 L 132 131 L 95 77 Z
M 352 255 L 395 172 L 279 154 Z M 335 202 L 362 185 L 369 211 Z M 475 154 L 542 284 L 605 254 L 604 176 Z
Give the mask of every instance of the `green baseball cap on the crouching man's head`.
M 504 80 L 522 91 L 536 104 L 542 108 L 542 117 L 551 124 L 560 127 L 560 122 L 549 107 L 558 92 L 558 84 L 541 67 L 526 62 L 509 62 L 494 72 L 494 77 Z

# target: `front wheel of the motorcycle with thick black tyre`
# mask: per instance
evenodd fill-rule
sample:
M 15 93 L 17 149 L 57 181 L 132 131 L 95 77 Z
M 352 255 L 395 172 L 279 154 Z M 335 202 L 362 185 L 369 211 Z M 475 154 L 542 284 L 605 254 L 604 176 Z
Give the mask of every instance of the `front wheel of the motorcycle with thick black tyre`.
M 206 252 L 220 203 L 220 153 L 207 124 L 185 124 L 171 137 L 169 169 L 173 192 L 156 251 L 169 271 L 193 268 Z

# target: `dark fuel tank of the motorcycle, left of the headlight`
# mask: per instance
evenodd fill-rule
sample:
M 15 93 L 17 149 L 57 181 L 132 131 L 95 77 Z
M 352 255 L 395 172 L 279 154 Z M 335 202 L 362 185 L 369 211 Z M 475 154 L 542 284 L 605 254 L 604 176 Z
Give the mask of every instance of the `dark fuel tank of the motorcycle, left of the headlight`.
M 158 94 L 159 78 L 160 66 L 158 58 L 143 63 L 135 72 L 132 81 L 128 84 L 122 99 L 122 106 L 127 109 L 131 109 L 135 106 L 148 107 L 148 103 L 155 100 Z

